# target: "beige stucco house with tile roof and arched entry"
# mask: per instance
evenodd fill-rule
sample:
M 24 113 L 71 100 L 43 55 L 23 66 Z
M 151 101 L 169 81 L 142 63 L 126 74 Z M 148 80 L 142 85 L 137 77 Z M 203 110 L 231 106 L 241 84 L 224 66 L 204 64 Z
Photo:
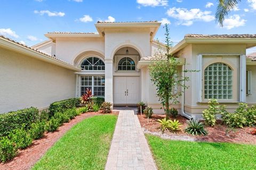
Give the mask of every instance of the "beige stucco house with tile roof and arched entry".
M 0 37 L 0 113 L 80 97 L 86 88 L 114 105 L 144 101 L 163 113 L 148 66 L 159 60 L 154 40 L 161 23 L 98 22 L 98 33 L 49 32 L 49 40 L 27 47 Z M 256 35 L 186 35 L 172 54 L 182 62 L 189 86 L 173 107 L 201 118 L 210 98 L 230 111 L 256 103 L 256 62 L 246 49 Z M 185 73 L 183 73 L 185 74 Z

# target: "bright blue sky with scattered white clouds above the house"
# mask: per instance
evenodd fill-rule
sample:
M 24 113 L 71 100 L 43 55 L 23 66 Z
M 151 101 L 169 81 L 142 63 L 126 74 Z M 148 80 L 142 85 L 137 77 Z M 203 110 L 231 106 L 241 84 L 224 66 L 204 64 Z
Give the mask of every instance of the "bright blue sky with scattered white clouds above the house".
M 256 0 L 242 0 L 223 28 L 216 7 L 217 0 L 1 0 L 0 34 L 30 46 L 47 32 L 95 32 L 98 20 L 168 22 L 174 43 L 187 33 L 256 33 Z M 164 40 L 162 27 L 155 38 Z

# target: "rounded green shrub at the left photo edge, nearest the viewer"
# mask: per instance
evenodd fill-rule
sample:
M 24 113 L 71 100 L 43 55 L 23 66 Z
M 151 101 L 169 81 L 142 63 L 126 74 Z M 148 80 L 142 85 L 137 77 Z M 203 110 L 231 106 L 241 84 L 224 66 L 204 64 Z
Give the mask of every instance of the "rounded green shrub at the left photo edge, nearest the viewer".
M 18 153 L 18 147 L 7 137 L 0 138 L 0 161 L 6 162 L 14 158 Z

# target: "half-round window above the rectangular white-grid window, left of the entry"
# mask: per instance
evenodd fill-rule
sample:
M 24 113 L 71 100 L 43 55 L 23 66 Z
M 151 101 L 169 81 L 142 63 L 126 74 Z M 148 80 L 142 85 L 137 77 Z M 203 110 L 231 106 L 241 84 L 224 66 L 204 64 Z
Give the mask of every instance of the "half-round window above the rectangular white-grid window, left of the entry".
M 82 70 L 105 70 L 105 63 L 98 57 L 86 58 L 81 64 Z

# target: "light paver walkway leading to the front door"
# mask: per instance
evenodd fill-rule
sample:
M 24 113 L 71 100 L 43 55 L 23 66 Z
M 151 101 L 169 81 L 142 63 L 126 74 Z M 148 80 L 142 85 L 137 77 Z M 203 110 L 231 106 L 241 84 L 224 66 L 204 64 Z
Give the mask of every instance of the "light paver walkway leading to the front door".
M 106 170 L 157 169 L 134 111 L 119 111 Z

